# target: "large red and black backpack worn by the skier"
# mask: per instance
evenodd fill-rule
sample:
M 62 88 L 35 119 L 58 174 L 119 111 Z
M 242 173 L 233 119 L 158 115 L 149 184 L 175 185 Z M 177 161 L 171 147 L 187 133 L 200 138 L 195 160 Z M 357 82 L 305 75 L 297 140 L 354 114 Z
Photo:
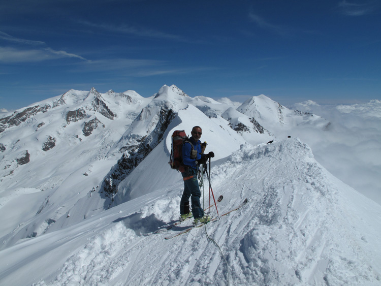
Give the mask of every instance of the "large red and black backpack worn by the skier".
M 172 134 L 172 147 L 169 165 L 171 165 L 172 169 L 178 170 L 179 172 L 185 171 L 185 165 L 182 163 L 182 145 L 184 145 L 185 142 L 188 142 L 192 145 L 192 150 L 194 150 L 193 144 L 188 140 L 189 138 L 186 136 L 184 130 L 176 130 Z

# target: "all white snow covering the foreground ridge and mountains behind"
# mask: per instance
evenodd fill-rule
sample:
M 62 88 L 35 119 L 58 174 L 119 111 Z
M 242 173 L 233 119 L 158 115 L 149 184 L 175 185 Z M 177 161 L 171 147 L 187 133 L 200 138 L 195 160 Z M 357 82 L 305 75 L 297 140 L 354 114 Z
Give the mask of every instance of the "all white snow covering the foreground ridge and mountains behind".
M 66 104 L 0 133 L 7 147 L 1 169 L 9 165 L 0 173 L 0 284 L 380 284 L 381 206 L 332 175 L 316 161 L 314 148 L 294 136 L 330 134 L 324 116 L 287 109 L 265 96 L 238 107 L 190 98 L 165 85 L 149 99 L 130 90 L 100 94 L 117 116 L 85 109 L 90 117 L 83 121 L 93 116 L 106 125 L 85 137 L 83 121 L 67 124 L 65 115 L 87 106 L 96 92 L 70 90 Z M 122 155 L 119 148 L 130 139 L 158 136 L 149 132 L 168 108 L 176 115 L 160 134 L 163 140 L 120 182 L 111 204 L 100 185 Z M 345 112 L 351 108 L 364 106 Z M 253 132 L 250 118 L 269 132 Z M 41 121 L 46 124 L 37 128 Z M 250 132 L 234 131 L 239 122 Z M 188 134 L 194 125 L 202 127 L 206 151 L 215 153 L 211 184 L 215 197 L 224 196 L 218 212 L 245 198 L 248 203 L 165 240 L 192 224 L 153 233 L 178 219 L 183 181 L 168 164 L 171 135 Z M 56 146 L 45 152 L 41 144 L 48 135 Z M 15 158 L 26 148 L 30 163 L 17 166 Z M 206 178 L 202 189 L 206 207 Z M 215 208 L 210 215 L 216 216 Z

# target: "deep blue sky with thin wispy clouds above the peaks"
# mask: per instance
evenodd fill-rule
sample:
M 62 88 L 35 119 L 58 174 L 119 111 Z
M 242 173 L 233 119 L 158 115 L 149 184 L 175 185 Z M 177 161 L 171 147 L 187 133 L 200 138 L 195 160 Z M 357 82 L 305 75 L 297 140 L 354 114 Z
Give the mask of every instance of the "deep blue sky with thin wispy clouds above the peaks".
M 281 104 L 381 100 L 381 0 L 0 3 L 0 109 L 164 84 Z

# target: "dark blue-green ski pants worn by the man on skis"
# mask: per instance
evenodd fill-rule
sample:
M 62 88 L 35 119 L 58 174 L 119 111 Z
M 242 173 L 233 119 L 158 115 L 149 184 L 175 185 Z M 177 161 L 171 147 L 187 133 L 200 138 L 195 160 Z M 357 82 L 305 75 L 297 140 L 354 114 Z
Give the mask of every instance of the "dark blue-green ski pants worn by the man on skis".
M 185 172 L 181 173 L 184 179 L 184 192 L 180 201 L 180 214 L 189 212 L 189 198 L 192 202 L 192 214 L 194 218 L 204 216 L 204 210 L 200 204 L 201 190 L 197 180 L 197 170 L 188 168 Z

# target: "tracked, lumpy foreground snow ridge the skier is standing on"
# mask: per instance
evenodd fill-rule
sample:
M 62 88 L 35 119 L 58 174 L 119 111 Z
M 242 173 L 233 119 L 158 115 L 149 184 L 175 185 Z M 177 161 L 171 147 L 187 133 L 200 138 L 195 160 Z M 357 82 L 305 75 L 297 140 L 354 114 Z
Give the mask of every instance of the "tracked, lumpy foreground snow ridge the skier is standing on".
M 220 213 L 248 198 L 241 209 L 206 225 L 226 261 L 204 228 L 164 239 L 184 222 L 152 234 L 178 216 L 179 175 L 172 186 L 0 251 L 0 282 L 380 283 L 381 207 L 328 173 L 306 144 L 293 138 L 243 144 L 214 164 L 212 174 L 215 195 L 224 195 Z

